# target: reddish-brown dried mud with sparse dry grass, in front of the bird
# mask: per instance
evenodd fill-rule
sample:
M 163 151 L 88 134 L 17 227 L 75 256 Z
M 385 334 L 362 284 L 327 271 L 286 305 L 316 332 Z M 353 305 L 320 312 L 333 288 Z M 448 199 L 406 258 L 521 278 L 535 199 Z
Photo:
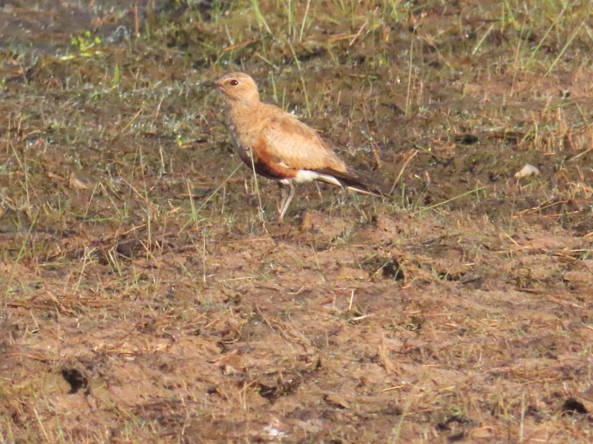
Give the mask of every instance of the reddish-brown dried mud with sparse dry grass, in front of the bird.
M 13 381 L 2 408 L 14 424 L 37 415 L 97 439 L 135 427 L 189 440 L 374 440 L 394 429 L 498 440 L 521 415 L 525 432 L 547 436 L 588 390 L 591 261 L 573 251 L 590 240 L 477 231 L 455 213 L 347 225 L 347 243 L 307 222 L 210 239 L 216 249 L 201 253 L 163 249 L 157 268 L 132 258 L 127 292 L 100 263 L 78 292 L 53 272 L 4 264 L 43 285 L 15 294 L 2 318 L 0 374 Z M 98 282 L 113 295 L 91 297 Z

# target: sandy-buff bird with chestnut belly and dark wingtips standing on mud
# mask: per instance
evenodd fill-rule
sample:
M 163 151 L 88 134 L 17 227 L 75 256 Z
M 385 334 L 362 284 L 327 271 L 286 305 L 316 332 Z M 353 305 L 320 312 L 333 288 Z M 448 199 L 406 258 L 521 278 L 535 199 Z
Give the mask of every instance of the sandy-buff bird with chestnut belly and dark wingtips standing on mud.
M 279 223 L 295 196 L 294 184 L 301 182 L 326 182 L 381 197 L 387 194 L 380 181 L 349 168 L 313 128 L 276 105 L 260 102 L 256 82 L 246 73 L 228 73 L 201 85 L 224 94 L 231 142 L 241 160 L 278 182 Z

